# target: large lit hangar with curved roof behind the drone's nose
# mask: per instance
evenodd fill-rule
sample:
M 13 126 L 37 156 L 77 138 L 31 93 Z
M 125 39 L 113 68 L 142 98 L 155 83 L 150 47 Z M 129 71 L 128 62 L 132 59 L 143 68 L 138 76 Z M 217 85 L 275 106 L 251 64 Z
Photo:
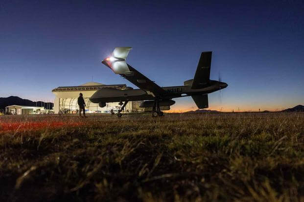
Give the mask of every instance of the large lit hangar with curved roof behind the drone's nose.
M 114 84 L 114 85 L 105 85 L 98 82 L 87 82 L 79 86 L 60 86 L 52 90 L 52 93 L 55 94 L 54 100 L 54 113 L 71 113 L 75 114 L 79 111 L 79 106 L 77 104 L 77 98 L 79 93 L 83 94 L 83 98 L 86 102 L 86 113 L 111 113 L 118 112 L 120 105 L 118 102 L 107 103 L 105 107 L 99 107 L 98 103 L 93 103 L 89 100 L 91 96 L 101 88 L 115 88 L 115 89 L 126 89 L 126 84 Z M 130 101 L 123 112 L 136 112 L 142 111 L 143 108 L 140 108 L 141 101 Z

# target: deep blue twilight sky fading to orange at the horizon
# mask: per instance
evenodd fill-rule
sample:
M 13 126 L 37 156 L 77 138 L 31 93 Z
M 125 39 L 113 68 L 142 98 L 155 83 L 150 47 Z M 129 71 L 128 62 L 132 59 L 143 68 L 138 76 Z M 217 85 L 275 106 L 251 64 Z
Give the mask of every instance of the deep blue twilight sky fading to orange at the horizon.
M 193 79 L 213 51 L 209 109 L 281 110 L 304 104 L 304 1 L 1 0 L 0 97 L 52 101 L 58 86 L 129 81 L 101 63 L 116 46 L 160 86 Z M 172 110 L 197 109 L 191 97 Z

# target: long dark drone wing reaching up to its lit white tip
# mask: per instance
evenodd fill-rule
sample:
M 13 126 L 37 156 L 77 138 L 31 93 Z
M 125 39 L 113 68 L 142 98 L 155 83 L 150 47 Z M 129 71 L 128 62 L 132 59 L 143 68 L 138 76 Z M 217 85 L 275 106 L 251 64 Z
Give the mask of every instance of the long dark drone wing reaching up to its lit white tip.
M 130 50 L 131 47 L 117 47 L 112 56 L 103 60 L 102 63 L 111 68 L 115 74 L 120 74 L 142 90 L 152 92 L 154 96 L 165 94 L 166 91 L 162 87 L 126 63 L 125 59 Z

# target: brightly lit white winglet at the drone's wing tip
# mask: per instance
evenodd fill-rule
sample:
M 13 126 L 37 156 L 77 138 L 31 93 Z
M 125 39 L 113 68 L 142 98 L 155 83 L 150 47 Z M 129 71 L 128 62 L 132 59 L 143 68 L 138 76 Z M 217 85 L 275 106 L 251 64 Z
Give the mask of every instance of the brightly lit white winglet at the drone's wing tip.
M 131 74 L 126 63 L 126 58 L 132 48 L 131 47 L 116 47 L 112 55 L 102 61 L 103 64 L 110 67 L 115 74 Z

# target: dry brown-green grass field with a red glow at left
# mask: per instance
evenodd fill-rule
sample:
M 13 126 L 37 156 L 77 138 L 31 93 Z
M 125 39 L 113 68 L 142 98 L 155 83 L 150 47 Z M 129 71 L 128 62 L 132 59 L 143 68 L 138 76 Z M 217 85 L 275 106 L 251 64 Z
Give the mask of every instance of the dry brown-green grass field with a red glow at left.
M 304 202 L 304 113 L 0 117 L 0 199 Z

